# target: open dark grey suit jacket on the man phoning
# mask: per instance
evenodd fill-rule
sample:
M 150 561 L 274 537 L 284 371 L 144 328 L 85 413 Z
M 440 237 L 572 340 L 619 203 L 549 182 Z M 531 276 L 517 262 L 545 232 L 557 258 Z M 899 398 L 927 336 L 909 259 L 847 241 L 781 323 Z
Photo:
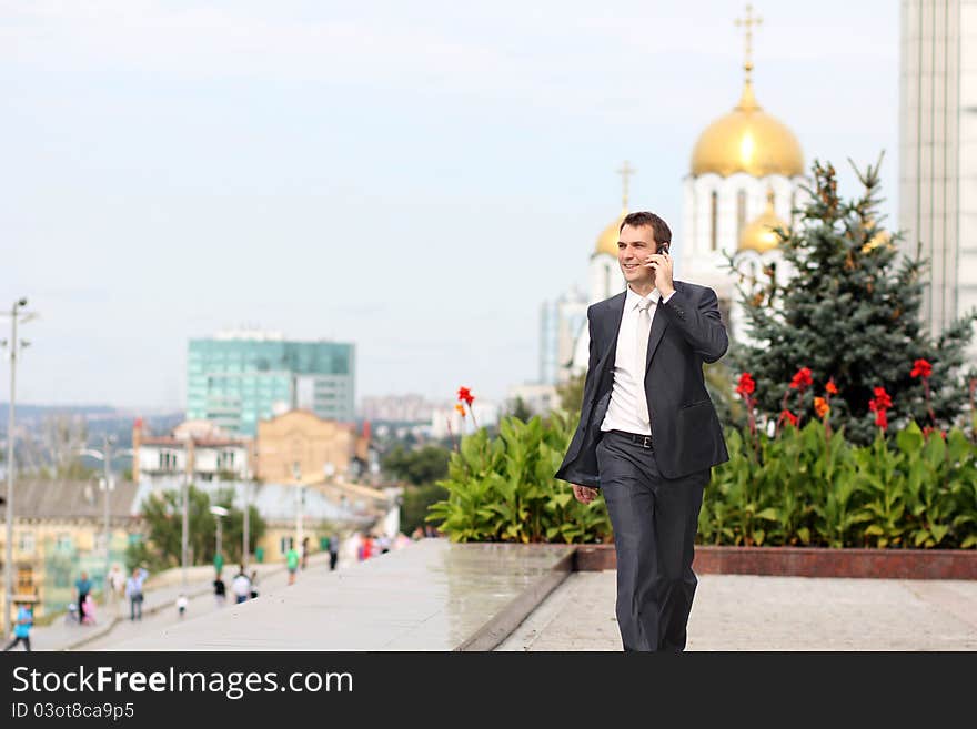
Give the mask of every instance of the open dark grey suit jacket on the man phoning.
M 703 377 L 703 363 L 716 362 L 729 345 L 719 302 L 706 286 L 683 281 L 674 284 L 675 294 L 667 304 L 658 304 L 652 321 L 645 373 L 655 460 L 666 478 L 681 478 L 729 459 Z M 581 419 L 556 472 L 557 478 L 572 484 L 601 487 L 595 450 L 611 403 L 626 293 L 587 310 L 591 356 Z

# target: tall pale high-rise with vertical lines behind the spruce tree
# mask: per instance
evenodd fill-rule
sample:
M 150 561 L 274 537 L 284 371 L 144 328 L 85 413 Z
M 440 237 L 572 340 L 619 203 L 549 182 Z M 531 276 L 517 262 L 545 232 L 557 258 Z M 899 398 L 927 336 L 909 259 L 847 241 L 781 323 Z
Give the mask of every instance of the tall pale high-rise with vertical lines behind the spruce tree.
M 977 307 L 977 1 L 903 0 L 899 60 L 899 246 L 936 337 Z

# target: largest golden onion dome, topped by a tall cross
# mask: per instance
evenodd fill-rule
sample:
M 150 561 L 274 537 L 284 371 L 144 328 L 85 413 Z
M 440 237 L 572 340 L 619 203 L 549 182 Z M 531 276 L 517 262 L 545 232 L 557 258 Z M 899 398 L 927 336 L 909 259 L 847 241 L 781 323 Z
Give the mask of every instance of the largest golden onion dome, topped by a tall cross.
M 804 173 L 800 143 L 787 126 L 761 109 L 747 78 L 736 108 L 699 135 L 692 151 L 692 174 L 724 178 L 746 172 L 754 178 Z

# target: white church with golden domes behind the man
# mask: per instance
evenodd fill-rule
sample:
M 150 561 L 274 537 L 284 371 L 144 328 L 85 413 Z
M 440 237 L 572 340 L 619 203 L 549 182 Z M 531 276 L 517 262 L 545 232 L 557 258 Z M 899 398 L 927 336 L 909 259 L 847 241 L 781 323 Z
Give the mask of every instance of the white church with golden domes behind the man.
M 765 271 L 774 271 L 778 282 L 788 276 L 774 230 L 789 227 L 793 211 L 804 204 L 804 186 L 810 184 L 797 138 L 756 100 L 751 20 L 745 24 L 747 52 L 739 101 L 706 126 L 693 146 L 688 174 L 682 181 L 681 226 L 672 249 L 676 280 L 713 288 L 729 334 L 738 342 L 747 342 L 748 336 L 737 285 L 749 295 L 768 281 Z M 591 304 L 624 291 L 617 240 L 628 210 L 627 175 L 633 171 L 625 162 L 618 172 L 625 181 L 624 205 L 591 254 Z M 733 257 L 735 272 L 726 254 Z M 588 348 L 584 322 L 574 346 L 573 373 L 586 369 Z

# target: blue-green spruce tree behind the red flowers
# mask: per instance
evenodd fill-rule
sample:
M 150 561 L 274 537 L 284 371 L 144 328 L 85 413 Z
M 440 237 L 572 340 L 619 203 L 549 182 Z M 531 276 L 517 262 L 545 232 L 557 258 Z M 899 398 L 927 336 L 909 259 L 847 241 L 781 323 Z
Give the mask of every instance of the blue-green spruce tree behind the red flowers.
M 888 236 L 878 225 L 880 165 L 882 158 L 864 173 L 855 170 L 865 192 L 846 201 L 838 195 L 834 168 L 814 163 L 808 204 L 796 211 L 799 219 L 792 230 L 776 231 L 790 274 L 780 286 L 769 266 L 763 281 L 751 282 L 752 290 L 737 286 L 755 346 L 737 344 L 729 352 L 737 374 L 753 375 L 757 408 L 768 418 L 778 418 L 789 393 L 786 406 L 803 426 L 815 417 L 813 398 L 824 396 L 833 378 L 838 394 L 830 399 L 832 427 L 844 425 L 848 439 L 859 444 L 870 443 L 878 432 L 869 411 L 875 387 L 892 397 L 894 429 L 910 419 L 945 429 L 963 424 L 968 385 L 977 377 L 974 363 L 965 362 L 977 311 L 953 322 L 936 341 L 919 318 L 928 262 L 920 257 L 921 244 L 915 260 L 899 255 L 899 236 Z M 935 424 L 923 382 L 910 374 L 917 360 L 933 365 L 928 385 Z M 810 368 L 814 382 L 799 396 L 789 383 L 802 367 Z

